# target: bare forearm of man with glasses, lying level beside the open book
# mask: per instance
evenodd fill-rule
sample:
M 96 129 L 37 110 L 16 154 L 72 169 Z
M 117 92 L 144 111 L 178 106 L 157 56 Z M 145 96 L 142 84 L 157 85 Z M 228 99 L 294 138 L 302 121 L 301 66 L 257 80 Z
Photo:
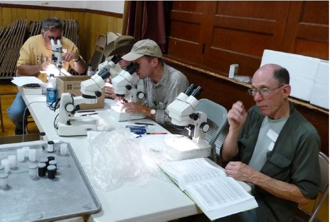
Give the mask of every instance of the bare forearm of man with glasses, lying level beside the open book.
M 310 201 L 310 199 L 305 197 L 296 185 L 273 179 L 258 171 L 255 171 L 255 175 L 251 178 L 251 181 L 247 182 L 252 182 L 265 191 L 282 199 L 299 204 L 305 204 Z

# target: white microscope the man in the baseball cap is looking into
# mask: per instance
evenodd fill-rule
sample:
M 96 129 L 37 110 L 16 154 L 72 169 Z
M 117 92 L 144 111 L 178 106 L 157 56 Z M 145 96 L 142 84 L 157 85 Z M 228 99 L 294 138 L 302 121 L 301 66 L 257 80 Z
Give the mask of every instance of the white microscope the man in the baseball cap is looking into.
M 138 100 L 142 100 L 144 98 L 143 80 L 136 80 L 132 76 L 138 67 L 139 65 L 133 64 L 132 62 L 126 67 L 125 70 L 112 79 L 114 93 L 116 93 L 116 96 L 121 98 L 121 100 L 126 103 L 137 103 Z M 127 113 L 125 110 L 122 110 L 122 106 L 122 104 L 117 104 L 110 107 L 110 115 L 117 121 L 146 118 L 146 116 L 142 113 Z

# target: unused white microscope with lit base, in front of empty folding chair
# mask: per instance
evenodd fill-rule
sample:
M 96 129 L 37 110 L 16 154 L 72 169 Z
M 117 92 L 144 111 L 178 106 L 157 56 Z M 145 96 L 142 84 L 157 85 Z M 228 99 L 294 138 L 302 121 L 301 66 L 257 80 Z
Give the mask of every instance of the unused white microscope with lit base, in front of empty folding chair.
M 189 133 L 188 137 L 168 135 L 164 139 L 180 159 L 207 157 L 211 154 L 211 145 L 205 142 L 205 133 L 209 130 L 207 116 L 203 112 L 195 112 L 199 103 L 196 98 L 202 88 L 194 87 L 194 84 L 191 84 L 167 106 L 174 127 L 180 130 L 186 129 Z

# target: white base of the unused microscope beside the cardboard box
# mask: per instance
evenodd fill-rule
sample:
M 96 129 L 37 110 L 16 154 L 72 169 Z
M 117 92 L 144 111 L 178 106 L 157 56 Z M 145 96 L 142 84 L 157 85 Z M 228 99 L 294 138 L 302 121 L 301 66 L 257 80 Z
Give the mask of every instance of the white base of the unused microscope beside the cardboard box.
M 88 131 L 97 131 L 96 121 L 71 121 L 71 125 L 57 122 L 57 127 L 58 136 L 84 136 Z

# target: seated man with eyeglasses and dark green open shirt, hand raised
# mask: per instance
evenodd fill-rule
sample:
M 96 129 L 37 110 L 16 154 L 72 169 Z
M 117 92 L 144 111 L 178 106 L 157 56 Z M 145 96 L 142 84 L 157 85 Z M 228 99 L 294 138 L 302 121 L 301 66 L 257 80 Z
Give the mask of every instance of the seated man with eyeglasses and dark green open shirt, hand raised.
M 228 176 L 247 182 L 259 207 L 228 218 L 292 221 L 299 203 L 315 199 L 320 183 L 320 138 L 288 100 L 289 73 L 279 65 L 260 67 L 248 90 L 256 105 L 241 101 L 228 112 L 229 133 L 221 149 Z

